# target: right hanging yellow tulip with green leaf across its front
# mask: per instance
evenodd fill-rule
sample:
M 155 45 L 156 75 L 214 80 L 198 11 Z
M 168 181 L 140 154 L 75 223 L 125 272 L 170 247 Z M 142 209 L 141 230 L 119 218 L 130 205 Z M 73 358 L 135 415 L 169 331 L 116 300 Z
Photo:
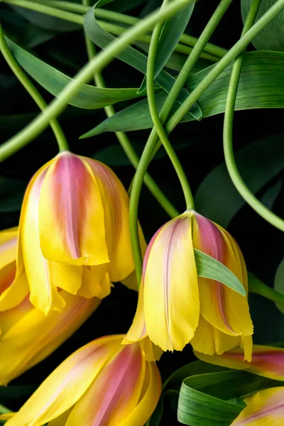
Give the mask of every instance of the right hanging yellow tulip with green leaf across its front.
M 209 355 L 241 345 L 249 360 L 253 325 L 247 297 L 197 277 L 194 249 L 223 263 L 247 290 L 246 266 L 236 241 L 221 226 L 187 211 L 151 239 L 136 316 L 124 343 L 148 335 L 164 351 L 181 351 L 190 342 Z

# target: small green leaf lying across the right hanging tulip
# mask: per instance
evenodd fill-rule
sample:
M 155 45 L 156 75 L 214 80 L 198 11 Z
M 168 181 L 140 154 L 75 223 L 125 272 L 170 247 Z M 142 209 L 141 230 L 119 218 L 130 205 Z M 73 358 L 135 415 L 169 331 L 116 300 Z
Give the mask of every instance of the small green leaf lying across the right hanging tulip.
M 217 261 L 216 259 L 208 256 L 208 254 L 203 253 L 197 249 L 195 250 L 195 263 L 197 267 L 197 274 L 200 277 L 210 278 L 211 280 L 219 281 L 227 287 L 236 291 L 240 295 L 246 296 L 246 290 L 244 285 L 242 285 L 239 278 L 234 275 L 223 263 Z

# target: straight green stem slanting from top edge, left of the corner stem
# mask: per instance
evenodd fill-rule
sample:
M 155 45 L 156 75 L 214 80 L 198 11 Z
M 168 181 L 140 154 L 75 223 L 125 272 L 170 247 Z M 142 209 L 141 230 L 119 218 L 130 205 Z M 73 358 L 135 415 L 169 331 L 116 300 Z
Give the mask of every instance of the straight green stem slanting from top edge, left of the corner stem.
M 173 105 L 175 104 L 175 100 L 177 99 L 180 90 L 185 85 L 185 82 L 187 81 L 187 78 L 190 75 L 192 68 L 195 66 L 198 58 L 200 58 L 200 54 L 202 53 L 204 46 L 207 44 L 207 41 L 211 37 L 214 30 L 217 28 L 217 25 L 221 21 L 222 17 L 224 16 L 224 13 L 229 8 L 232 1 L 233 0 L 222 0 L 219 3 L 219 6 L 217 6 L 217 9 L 214 11 L 211 18 L 209 19 L 207 26 L 205 26 L 204 30 L 202 31 L 200 38 L 197 40 L 195 47 L 192 49 L 192 53 L 190 53 L 190 56 L 187 58 L 185 64 L 182 67 L 182 70 L 180 71 L 180 74 L 175 80 L 175 83 L 173 84 L 173 87 L 170 90 L 167 99 L 165 99 L 165 103 L 163 104 L 163 107 L 160 111 L 160 121 L 162 122 L 162 124 L 164 124 L 166 119 L 168 118 L 168 115 L 170 114 L 170 111 L 173 108 Z M 187 111 L 189 111 L 189 109 L 187 109 Z M 158 142 L 158 133 L 155 131 L 155 128 L 153 128 L 147 143 L 151 143 L 154 145 L 156 142 Z M 155 146 L 155 149 L 153 150 L 153 155 L 155 155 L 155 153 L 158 151 L 158 148 L 160 148 L 160 141 Z

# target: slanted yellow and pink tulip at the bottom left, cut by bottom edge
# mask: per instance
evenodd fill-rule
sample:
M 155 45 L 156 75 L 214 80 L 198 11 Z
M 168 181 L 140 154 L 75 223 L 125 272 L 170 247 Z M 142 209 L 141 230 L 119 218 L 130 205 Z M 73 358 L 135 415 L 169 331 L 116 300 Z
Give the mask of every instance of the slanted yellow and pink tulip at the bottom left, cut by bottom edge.
M 53 371 L 7 426 L 143 426 L 161 392 L 158 367 L 122 335 L 82 346 Z

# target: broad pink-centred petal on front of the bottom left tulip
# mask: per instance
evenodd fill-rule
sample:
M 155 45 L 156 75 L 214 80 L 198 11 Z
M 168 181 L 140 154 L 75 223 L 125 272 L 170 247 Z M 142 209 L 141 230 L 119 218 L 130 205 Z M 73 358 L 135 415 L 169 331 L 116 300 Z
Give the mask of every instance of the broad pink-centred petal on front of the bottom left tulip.
M 84 426 L 121 425 L 132 413 L 141 395 L 146 362 L 139 344 L 121 347 L 77 402 L 66 426 L 80 425 L 82 419 Z

